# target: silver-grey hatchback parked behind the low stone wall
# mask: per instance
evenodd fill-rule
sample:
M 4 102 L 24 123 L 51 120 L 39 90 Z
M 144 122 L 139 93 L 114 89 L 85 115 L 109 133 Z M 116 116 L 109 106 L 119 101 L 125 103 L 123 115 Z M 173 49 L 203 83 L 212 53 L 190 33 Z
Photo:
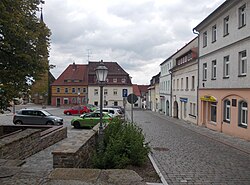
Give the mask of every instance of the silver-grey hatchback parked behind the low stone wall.
M 13 117 L 16 125 L 62 125 L 63 119 L 53 116 L 46 110 L 21 109 Z

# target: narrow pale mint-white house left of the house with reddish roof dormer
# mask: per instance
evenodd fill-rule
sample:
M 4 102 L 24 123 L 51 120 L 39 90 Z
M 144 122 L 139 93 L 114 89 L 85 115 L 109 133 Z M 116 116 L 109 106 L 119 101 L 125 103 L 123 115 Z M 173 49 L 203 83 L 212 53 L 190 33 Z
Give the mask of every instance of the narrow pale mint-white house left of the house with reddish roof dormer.
M 167 60 L 160 64 L 161 75 L 160 75 L 160 110 L 167 116 L 172 115 L 172 101 L 171 101 L 171 86 L 172 86 L 172 76 L 170 69 L 173 66 L 173 58 L 169 57 Z

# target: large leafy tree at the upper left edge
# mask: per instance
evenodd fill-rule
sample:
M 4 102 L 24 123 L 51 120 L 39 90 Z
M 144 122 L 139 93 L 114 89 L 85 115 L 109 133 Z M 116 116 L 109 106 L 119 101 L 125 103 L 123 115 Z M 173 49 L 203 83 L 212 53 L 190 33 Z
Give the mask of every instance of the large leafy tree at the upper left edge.
M 48 70 L 50 30 L 37 17 L 39 3 L 0 1 L 0 84 L 8 100 Z

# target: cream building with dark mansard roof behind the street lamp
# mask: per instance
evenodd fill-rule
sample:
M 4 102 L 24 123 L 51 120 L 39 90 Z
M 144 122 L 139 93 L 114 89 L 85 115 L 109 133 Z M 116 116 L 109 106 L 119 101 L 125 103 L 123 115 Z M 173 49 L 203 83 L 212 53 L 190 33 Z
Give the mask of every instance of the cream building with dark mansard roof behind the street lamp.
M 100 105 L 100 87 L 96 80 L 95 69 L 100 62 L 89 62 L 88 64 L 88 103 L 96 106 Z M 108 68 L 107 82 L 103 88 L 104 106 L 124 106 L 127 95 L 132 93 L 132 83 L 130 76 L 117 62 L 104 62 Z

